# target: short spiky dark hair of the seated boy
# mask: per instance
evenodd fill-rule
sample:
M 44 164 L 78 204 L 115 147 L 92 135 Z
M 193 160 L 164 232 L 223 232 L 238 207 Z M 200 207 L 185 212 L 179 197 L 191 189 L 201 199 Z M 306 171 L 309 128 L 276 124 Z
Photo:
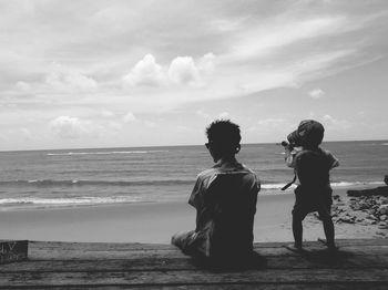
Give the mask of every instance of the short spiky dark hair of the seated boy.
M 229 120 L 216 120 L 206 127 L 206 136 L 211 143 L 225 153 L 235 153 L 242 139 L 239 126 Z

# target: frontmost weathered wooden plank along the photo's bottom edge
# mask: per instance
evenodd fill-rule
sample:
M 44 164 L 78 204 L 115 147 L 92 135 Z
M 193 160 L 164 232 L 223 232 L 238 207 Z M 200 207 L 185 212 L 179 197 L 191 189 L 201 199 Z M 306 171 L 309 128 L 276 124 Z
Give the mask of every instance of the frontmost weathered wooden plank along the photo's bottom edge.
M 150 286 L 150 284 L 253 284 L 253 283 L 356 283 L 380 282 L 388 286 L 388 269 L 302 269 L 249 270 L 241 272 L 112 271 L 112 272 L 13 272 L 2 273 L 1 287 L 39 286 Z

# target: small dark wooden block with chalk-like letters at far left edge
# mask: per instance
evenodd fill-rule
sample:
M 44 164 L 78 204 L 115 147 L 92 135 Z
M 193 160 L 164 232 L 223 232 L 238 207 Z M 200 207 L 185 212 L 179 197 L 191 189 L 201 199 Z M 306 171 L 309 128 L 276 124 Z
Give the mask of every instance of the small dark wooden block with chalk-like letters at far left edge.
M 0 265 L 22 261 L 28 256 L 28 240 L 0 240 Z

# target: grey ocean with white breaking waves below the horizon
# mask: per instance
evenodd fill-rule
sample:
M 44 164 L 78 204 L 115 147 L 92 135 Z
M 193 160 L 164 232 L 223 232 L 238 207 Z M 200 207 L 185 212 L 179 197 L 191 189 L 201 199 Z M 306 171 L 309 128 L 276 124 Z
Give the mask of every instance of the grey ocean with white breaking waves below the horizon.
M 379 186 L 388 174 L 388 141 L 327 142 L 340 162 L 331 185 Z M 262 182 L 262 194 L 294 174 L 283 147 L 246 144 L 237 155 Z M 196 175 L 213 166 L 205 146 L 0 152 L 0 210 L 186 200 Z

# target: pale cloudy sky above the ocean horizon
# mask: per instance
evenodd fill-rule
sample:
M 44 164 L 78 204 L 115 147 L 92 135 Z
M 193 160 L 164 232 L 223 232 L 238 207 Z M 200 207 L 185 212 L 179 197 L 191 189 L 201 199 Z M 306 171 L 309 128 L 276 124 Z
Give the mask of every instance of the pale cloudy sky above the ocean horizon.
M 388 1 L 0 0 L 0 151 L 388 139 Z

